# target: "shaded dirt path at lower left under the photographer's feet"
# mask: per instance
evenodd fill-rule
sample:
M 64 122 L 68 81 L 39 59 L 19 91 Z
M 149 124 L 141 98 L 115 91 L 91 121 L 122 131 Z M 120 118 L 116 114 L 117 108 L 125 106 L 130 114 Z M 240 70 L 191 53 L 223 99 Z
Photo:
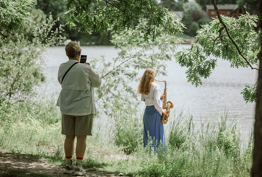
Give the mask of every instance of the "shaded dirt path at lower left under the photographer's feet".
M 63 170 L 64 167 L 58 163 L 50 163 L 29 155 L 0 152 L 0 176 L 74 176 L 64 174 Z M 82 176 L 115 177 L 114 174 L 85 170 L 86 174 Z

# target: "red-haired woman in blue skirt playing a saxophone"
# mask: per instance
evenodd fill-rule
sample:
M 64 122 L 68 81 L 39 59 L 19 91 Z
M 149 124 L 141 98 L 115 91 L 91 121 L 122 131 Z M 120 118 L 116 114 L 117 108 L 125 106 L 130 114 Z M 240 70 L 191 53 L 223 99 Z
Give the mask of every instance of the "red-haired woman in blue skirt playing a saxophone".
M 148 143 L 148 138 L 155 139 L 156 147 L 159 146 L 160 140 L 162 147 L 165 146 L 165 132 L 163 124 L 160 120 L 161 112 L 166 115 L 167 111 L 162 109 L 161 100 L 163 95 L 160 92 L 159 84 L 154 83 L 155 70 L 147 68 L 140 80 L 138 86 L 138 93 L 141 94 L 141 101 L 146 104 L 143 122 L 144 122 L 144 147 Z M 148 134 L 149 132 L 149 134 Z

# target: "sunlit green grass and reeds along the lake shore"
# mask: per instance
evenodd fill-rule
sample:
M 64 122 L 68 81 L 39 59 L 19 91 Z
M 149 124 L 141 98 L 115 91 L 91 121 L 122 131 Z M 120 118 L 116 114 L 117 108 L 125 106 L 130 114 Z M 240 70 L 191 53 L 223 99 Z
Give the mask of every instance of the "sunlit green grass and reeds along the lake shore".
M 54 101 L 43 103 L 0 107 L 0 148 L 63 166 L 61 115 Z M 217 122 L 201 120 L 200 127 L 192 115 L 176 111 L 165 125 L 165 151 L 160 148 L 155 154 L 149 145 L 143 147 L 143 112 L 132 105 L 129 110 L 117 108 L 113 121 L 109 119 L 112 135 L 95 124 L 93 136 L 88 136 L 84 168 L 128 176 L 250 176 L 253 135 L 241 148 L 236 121 L 227 120 L 227 111 Z

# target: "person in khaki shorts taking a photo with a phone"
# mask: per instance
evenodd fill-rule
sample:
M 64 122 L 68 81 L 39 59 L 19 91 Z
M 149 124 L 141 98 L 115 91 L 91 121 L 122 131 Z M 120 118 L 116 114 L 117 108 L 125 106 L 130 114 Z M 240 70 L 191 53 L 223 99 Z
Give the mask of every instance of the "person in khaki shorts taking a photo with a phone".
M 62 90 L 56 104 L 62 113 L 62 134 L 65 135 L 67 165 L 64 173 L 83 175 L 86 173 L 82 168 L 86 136 L 92 135 L 94 114 L 97 113 L 94 87 L 100 87 L 101 79 L 89 63 L 79 63 L 81 49 L 77 42 L 69 42 L 65 46 L 65 53 L 68 61 L 62 63 L 58 70 L 58 82 L 62 85 Z M 72 161 L 75 137 L 76 166 Z

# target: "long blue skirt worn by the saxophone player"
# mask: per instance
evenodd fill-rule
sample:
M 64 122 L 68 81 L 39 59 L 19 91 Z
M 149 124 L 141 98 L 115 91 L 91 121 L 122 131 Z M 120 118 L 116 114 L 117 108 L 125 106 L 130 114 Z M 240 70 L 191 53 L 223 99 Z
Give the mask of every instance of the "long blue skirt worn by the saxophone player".
M 155 139 L 156 147 L 159 146 L 160 140 L 162 147 L 165 146 L 165 132 L 164 132 L 164 126 L 160 120 L 161 113 L 156 110 L 155 106 L 146 106 L 144 116 L 143 116 L 143 122 L 144 122 L 144 138 L 143 143 L 144 147 L 148 143 L 148 137 L 151 138 L 151 140 Z M 149 135 L 148 135 L 149 132 Z

